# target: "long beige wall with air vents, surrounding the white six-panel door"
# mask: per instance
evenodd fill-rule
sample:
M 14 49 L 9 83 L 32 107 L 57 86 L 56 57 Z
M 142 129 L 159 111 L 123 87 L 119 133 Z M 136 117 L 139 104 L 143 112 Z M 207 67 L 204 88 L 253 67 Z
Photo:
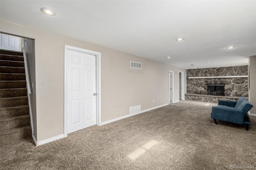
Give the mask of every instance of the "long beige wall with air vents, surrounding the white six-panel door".
M 179 71 L 186 77 L 185 69 L 9 22 L 1 21 L 0 29 L 35 39 L 38 142 L 64 134 L 64 45 L 101 53 L 102 122 L 128 115 L 134 105 L 145 110 L 168 103 L 168 70 L 174 71 L 174 101 L 179 100 Z M 141 62 L 142 69 L 130 69 L 130 61 Z

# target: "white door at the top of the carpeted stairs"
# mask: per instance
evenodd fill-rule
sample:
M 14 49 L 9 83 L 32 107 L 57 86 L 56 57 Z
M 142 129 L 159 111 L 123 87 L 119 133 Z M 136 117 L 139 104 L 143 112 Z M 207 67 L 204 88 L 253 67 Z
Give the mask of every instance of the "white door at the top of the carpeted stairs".
M 19 37 L 0 34 L 0 49 L 19 51 Z

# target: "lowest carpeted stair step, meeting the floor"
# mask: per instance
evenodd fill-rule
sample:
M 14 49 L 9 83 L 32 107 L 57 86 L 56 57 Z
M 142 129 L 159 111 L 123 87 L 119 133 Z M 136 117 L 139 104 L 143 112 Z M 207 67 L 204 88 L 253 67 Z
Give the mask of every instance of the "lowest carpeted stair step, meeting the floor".
M 31 126 L 0 131 L 0 146 L 31 136 Z

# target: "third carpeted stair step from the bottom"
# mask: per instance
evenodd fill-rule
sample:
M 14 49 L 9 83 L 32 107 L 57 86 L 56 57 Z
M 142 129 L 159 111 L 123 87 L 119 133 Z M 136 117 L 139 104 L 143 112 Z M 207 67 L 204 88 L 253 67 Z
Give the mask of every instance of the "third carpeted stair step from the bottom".
M 7 118 L 7 117 L 28 115 L 28 114 L 29 114 L 29 106 L 28 105 L 7 107 L 7 108 L 0 109 L 0 118 L 2 118 L 2 119 Z

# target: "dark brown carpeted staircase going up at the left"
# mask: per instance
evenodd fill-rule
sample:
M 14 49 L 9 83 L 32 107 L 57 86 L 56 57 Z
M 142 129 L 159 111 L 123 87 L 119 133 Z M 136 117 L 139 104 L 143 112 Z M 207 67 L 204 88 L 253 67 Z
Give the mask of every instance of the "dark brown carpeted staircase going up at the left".
M 31 136 L 22 52 L 0 50 L 0 145 Z

